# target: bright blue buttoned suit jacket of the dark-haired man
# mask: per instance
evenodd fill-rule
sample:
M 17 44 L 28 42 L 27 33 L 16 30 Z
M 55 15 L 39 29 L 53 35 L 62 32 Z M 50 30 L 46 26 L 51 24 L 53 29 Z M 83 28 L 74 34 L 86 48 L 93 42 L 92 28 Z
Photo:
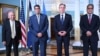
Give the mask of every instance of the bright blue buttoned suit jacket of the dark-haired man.
M 40 14 L 40 24 L 38 24 L 37 17 L 36 15 L 33 15 L 29 19 L 29 30 L 31 32 L 32 36 L 32 41 L 37 41 L 37 40 L 47 40 L 48 35 L 47 35 L 47 29 L 48 29 L 48 18 L 44 14 Z M 37 33 L 41 32 L 43 36 L 41 38 L 37 37 Z

